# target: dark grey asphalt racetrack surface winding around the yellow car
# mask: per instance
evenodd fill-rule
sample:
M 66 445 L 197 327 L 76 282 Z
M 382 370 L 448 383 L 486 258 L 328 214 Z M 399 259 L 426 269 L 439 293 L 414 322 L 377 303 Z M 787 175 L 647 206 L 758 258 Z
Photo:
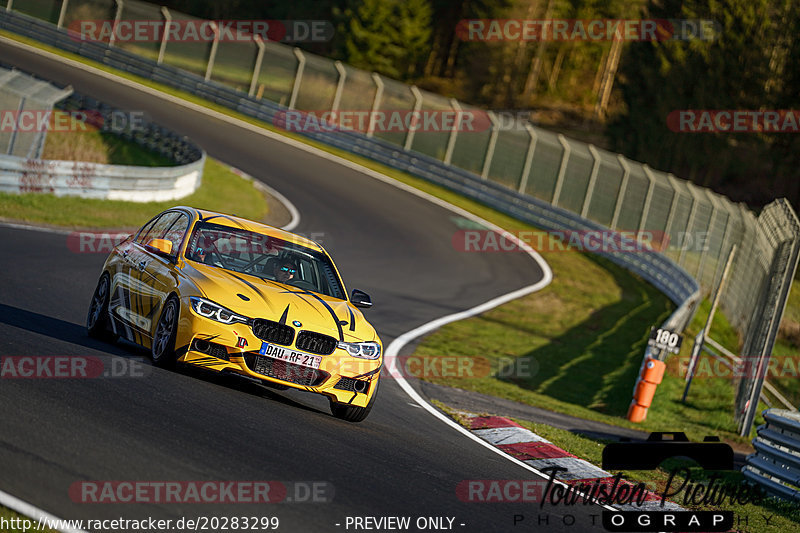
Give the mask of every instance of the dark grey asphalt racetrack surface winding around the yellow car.
M 367 318 L 385 346 L 542 277 L 526 254 L 456 251 L 453 213 L 359 172 L 6 44 L 0 57 L 117 107 L 146 111 L 286 195 L 302 215 L 296 231 L 322 232 L 348 288 L 371 294 Z M 131 344 L 86 336 L 103 255 L 74 253 L 64 235 L 23 229 L 0 228 L 0 243 L 0 355 L 146 356 Z M 592 506 L 460 501 L 463 480 L 535 476 L 436 420 L 391 379 L 382 381 L 369 418 L 349 424 L 314 395 L 193 370 L 145 369 L 144 377 L 3 379 L 0 490 L 61 518 L 277 516 L 279 531 L 295 532 L 353 531 L 345 529 L 348 516 L 409 516 L 415 531 L 417 517 L 430 516 L 455 518 L 456 531 L 586 531 L 595 515 L 602 529 L 601 510 Z M 86 504 L 68 492 L 82 480 L 323 482 L 333 498 Z M 515 515 L 525 517 L 517 526 Z M 573 515 L 574 525 L 564 525 L 564 515 Z

